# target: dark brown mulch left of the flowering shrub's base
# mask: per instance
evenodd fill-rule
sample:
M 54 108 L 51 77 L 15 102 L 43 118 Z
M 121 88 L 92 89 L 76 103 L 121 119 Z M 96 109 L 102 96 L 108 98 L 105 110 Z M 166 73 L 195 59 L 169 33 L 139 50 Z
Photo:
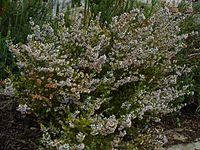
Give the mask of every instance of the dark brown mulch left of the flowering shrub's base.
M 14 98 L 0 95 L 0 150 L 35 150 L 40 127 L 34 115 L 21 115 Z

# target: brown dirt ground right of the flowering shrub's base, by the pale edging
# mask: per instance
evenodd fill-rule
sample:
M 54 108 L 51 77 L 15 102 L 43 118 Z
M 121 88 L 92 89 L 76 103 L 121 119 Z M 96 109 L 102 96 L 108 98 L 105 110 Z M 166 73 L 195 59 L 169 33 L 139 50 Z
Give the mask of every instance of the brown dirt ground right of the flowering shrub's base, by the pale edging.
M 200 113 L 196 111 L 197 107 L 197 103 L 191 103 L 183 107 L 179 114 L 162 118 L 159 125 L 168 139 L 164 147 L 200 139 Z

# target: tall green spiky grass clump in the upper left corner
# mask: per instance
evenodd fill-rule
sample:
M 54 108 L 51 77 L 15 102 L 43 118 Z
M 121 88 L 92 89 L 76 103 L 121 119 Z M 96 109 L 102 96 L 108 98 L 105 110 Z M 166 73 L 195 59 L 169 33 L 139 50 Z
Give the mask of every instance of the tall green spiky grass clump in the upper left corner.
M 39 25 L 52 16 L 52 3 L 43 0 L 8 1 L 0 16 L 0 32 L 6 37 L 8 32 L 14 42 L 25 42 L 31 28 L 29 18 L 32 17 Z

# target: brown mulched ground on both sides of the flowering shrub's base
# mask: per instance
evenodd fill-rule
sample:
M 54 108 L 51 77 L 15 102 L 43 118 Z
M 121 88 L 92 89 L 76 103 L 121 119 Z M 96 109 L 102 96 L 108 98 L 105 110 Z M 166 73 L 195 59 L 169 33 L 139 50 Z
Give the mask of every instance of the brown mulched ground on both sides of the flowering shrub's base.
M 35 150 L 41 137 L 39 124 L 34 115 L 22 116 L 17 106 L 14 98 L 0 95 L 0 150 Z M 191 103 L 179 115 L 165 116 L 156 124 L 167 136 L 165 147 L 200 138 L 200 113 L 196 109 L 197 104 Z

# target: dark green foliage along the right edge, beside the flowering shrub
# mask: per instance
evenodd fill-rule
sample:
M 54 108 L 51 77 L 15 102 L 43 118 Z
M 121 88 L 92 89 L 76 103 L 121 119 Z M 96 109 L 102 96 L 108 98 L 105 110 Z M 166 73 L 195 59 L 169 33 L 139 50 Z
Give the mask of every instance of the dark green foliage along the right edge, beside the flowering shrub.
M 182 76 L 180 80 L 185 83 L 192 83 L 191 91 L 194 95 L 185 97 L 182 102 L 187 103 L 198 103 L 200 106 L 200 1 L 193 3 L 193 12 L 191 15 L 187 16 L 186 19 L 181 24 L 181 33 L 188 33 L 189 36 L 185 41 L 185 48 L 178 55 L 179 63 L 185 63 L 187 66 L 192 68 L 192 71 L 186 76 Z M 184 1 L 180 4 L 180 7 L 187 9 L 188 3 Z M 181 84 L 181 83 L 180 83 Z M 199 107 L 197 108 L 199 110 Z

